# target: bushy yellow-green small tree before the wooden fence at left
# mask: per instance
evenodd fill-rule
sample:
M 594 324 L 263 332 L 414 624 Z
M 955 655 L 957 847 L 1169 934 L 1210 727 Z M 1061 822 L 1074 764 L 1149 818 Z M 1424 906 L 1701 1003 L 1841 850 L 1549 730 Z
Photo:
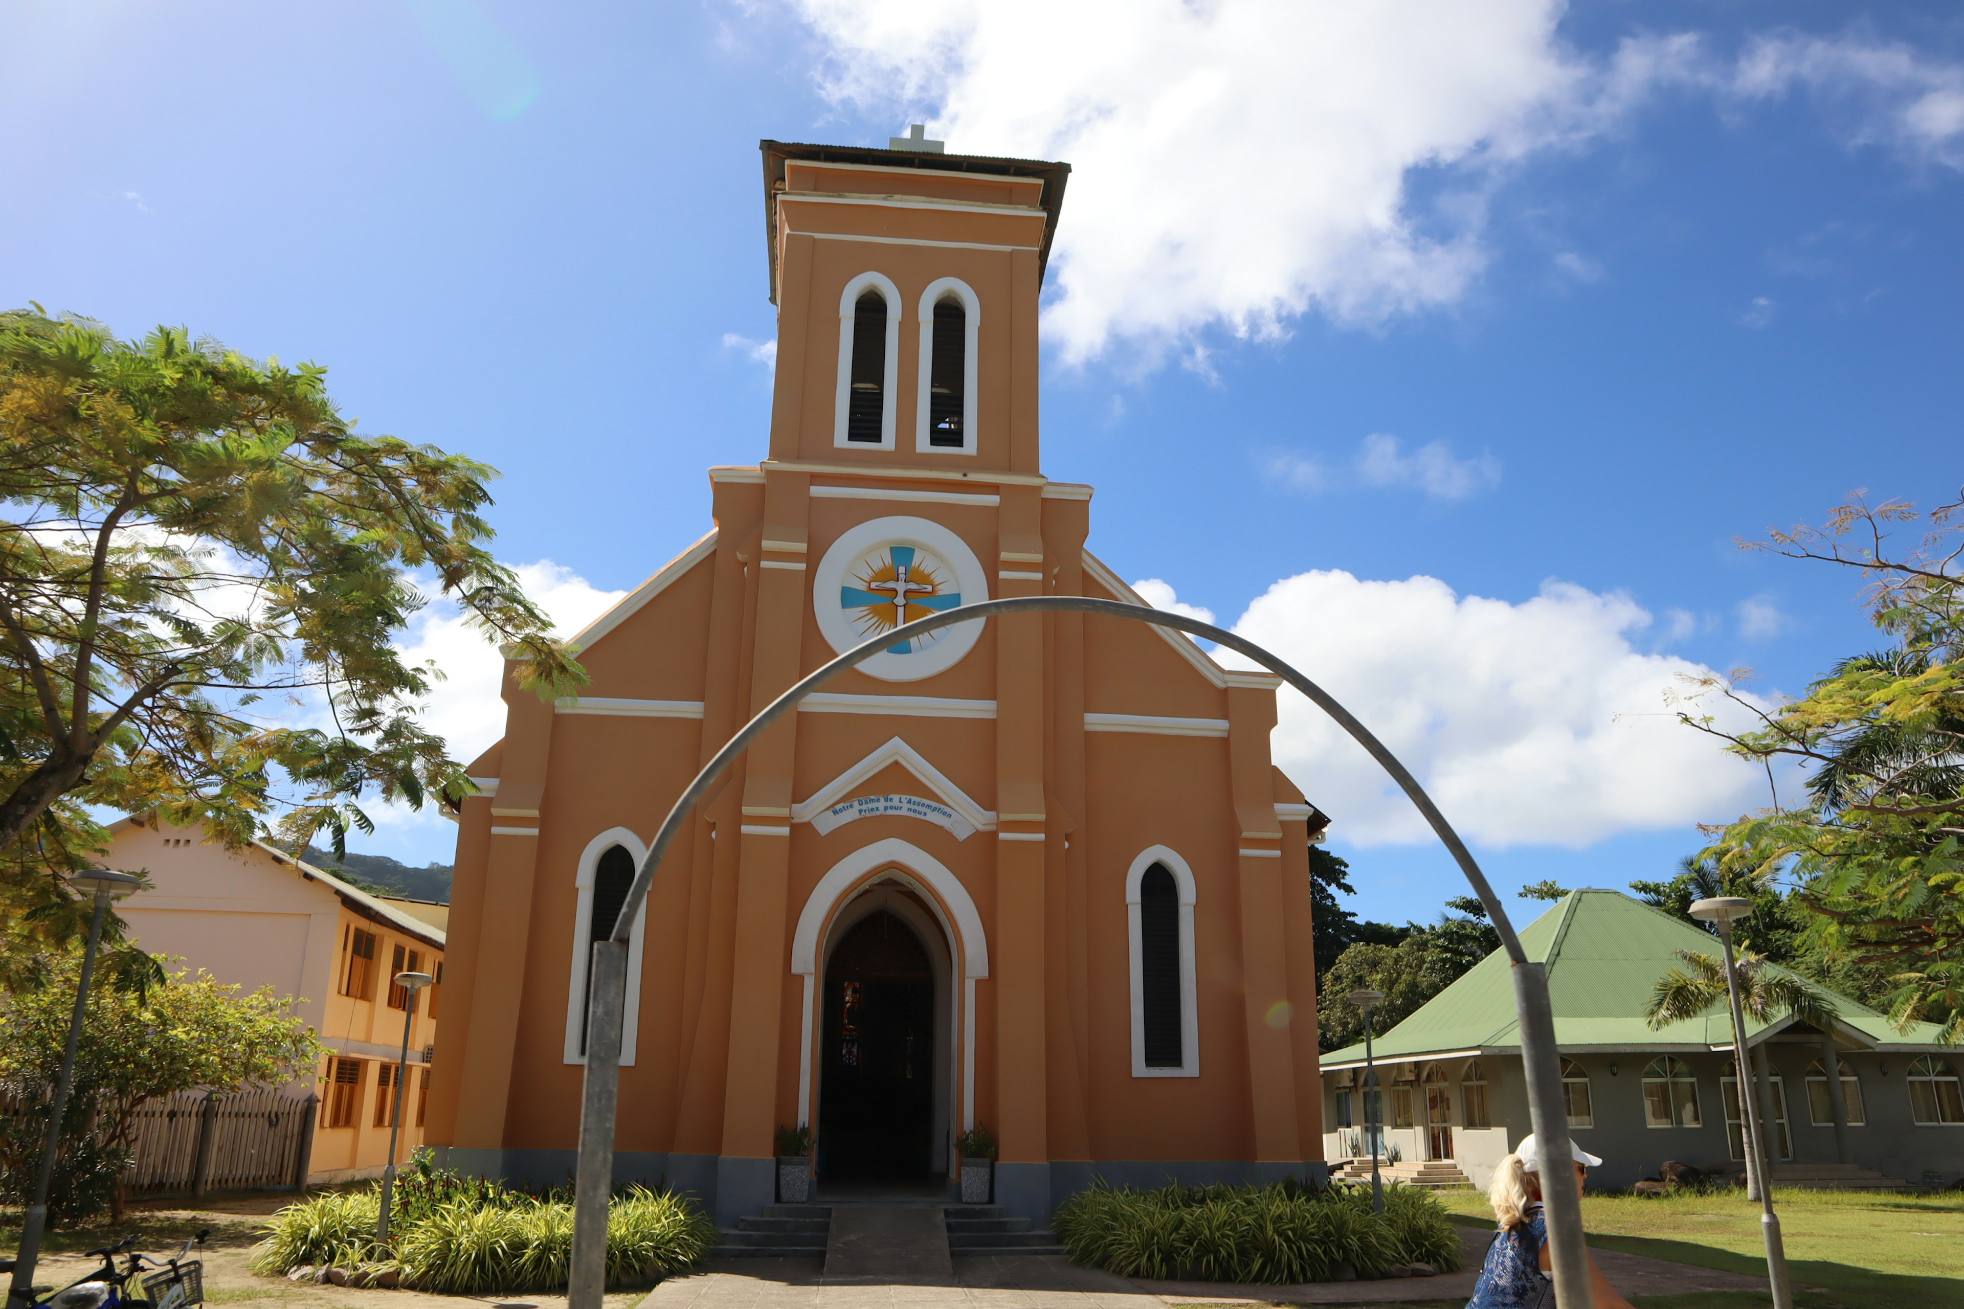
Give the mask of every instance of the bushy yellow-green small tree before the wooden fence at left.
M 33 1189 L 47 1132 L 43 1093 L 61 1070 L 79 969 L 81 950 L 63 950 L 45 960 L 47 985 L 0 997 L 0 1030 L 8 1034 L 0 1042 L 0 1101 L 8 1107 L 0 1115 L 0 1193 L 10 1203 L 24 1203 Z M 179 969 L 169 985 L 145 991 L 90 989 L 51 1213 L 73 1221 L 110 1199 L 145 1099 L 310 1077 L 320 1050 L 273 987 L 247 993 L 204 969 Z

